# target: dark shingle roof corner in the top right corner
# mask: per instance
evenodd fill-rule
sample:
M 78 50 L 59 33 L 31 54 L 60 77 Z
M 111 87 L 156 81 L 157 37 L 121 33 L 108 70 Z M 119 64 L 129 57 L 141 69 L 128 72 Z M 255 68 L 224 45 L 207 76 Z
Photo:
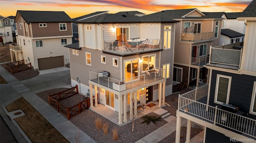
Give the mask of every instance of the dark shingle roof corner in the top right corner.
M 255 18 L 256 17 L 256 0 L 247 6 L 247 8 L 240 14 L 240 18 Z

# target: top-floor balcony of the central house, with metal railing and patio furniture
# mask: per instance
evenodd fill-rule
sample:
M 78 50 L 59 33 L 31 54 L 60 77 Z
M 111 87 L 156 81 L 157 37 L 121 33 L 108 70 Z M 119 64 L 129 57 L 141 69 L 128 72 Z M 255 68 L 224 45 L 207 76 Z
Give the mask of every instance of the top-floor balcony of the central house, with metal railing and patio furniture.
M 102 51 L 120 56 L 160 51 L 163 50 L 161 41 L 161 39 L 131 39 L 124 42 L 104 40 Z

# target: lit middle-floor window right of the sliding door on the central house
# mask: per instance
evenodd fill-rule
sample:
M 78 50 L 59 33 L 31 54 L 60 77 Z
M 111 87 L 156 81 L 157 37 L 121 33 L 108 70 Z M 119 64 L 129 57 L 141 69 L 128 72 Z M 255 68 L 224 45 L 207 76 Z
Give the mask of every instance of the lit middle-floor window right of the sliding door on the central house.
M 142 71 L 149 71 L 155 69 L 156 66 L 156 54 L 154 55 L 147 55 L 142 57 Z

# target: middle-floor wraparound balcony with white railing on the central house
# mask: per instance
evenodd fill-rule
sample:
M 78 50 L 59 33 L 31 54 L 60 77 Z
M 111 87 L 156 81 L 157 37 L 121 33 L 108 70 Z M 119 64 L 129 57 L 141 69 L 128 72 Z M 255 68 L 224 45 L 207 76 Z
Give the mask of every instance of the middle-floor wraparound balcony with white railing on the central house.
M 108 76 L 102 76 L 102 72 L 104 71 L 101 71 L 100 69 L 90 71 L 90 81 L 93 82 L 94 85 L 104 86 L 113 91 L 115 90 L 116 92 L 122 92 L 129 89 L 135 90 L 134 88 L 141 89 L 145 88 L 146 86 L 166 82 L 166 78 L 164 78 L 165 70 L 158 67 L 156 67 L 156 69 L 147 71 L 140 76 L 135 76 L 130 79 L 126 78 L 125 80 L 117 80 Z

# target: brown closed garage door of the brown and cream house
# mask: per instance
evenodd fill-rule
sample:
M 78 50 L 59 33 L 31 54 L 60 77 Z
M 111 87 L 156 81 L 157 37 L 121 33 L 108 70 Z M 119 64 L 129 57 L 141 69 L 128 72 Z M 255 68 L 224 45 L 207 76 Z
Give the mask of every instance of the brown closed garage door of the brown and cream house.
M 57 67 L 64 67 L 64 56 L 38 59 L 39 70 L 52 69 Z

